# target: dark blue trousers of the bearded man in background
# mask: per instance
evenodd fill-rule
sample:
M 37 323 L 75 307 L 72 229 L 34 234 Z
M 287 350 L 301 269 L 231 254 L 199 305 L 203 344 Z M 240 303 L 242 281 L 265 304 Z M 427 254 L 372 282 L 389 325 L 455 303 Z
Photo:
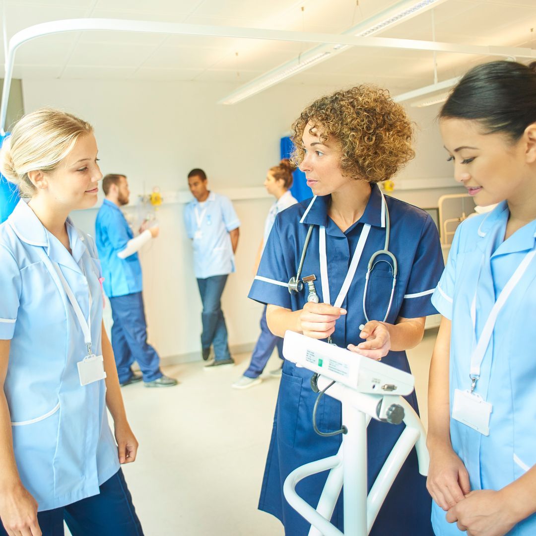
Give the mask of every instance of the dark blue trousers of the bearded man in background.
M 130 367 L 137 361 L 143 373 L 144 382 L 160 378 L 160 358 L 155 349 L 147 344 L 147 324 L 141 292 L 110 298 L 111 346 L 114 349 L 115 364 L 119 383 L 126 382 L 132 371 Z

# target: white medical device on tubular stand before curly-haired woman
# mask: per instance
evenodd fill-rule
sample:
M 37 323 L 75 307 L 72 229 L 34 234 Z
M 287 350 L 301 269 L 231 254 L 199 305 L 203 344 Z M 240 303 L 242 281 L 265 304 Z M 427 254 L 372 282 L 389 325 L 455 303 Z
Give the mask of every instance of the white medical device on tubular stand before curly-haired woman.
M 285 333 L 283 355 L 296 366 L 315 373 L 311 387 L 319 391 L 319 397 L 327 393 L 341 401 L 344 425 L 329 434 L 343 434 L 337 455 L 295 469 L 285 480 L 285 498 L 311 523 L 309 536 L 341 536 L 343 533 L 330 523 L 330 518 L 344 483 L 344 534 L 366 536 L 413 446 L 419 459 L 419 472 L 428 473 L 426 432 L 415 410 L 403 398 L 413 392 L 414 378 L 385 363 L 292 331 Z M 406 427 L 367 496 L 370 419 L 392 424 L 404 422 Z M 304 478 L 323 471 L 330 473 L 315 509 L 297 495 L 295 488 Z

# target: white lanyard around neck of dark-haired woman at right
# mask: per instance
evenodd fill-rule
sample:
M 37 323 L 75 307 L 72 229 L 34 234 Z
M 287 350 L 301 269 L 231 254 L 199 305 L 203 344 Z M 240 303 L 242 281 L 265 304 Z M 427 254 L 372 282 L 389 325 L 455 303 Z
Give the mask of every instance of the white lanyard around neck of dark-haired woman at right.
M 477 289 L 475 290 L 473 302 L 471 303 L 471 320 L 473 322 L 473 332 L 476 333 L 477 329 L 477 292 L 478 292 L 478 283 L 480 280 L 480 273 L 482 272 L 482 266 L 486 262 L 486 259 L 490 257 L 491 248 L 493 246 L 493 239 L 490 241 L 490 247 L 488 251 L 488 255 L 483 254 L 482 255 L 482 263 L 480 265 L 480 272 L 477 279 Z M 519 283 L 519 280 L 523 277 L 523 274 L 526 272 L 528 265 L 530 264 L 531 260 L 533 259 L 534 255 L 536 255 L 536 250 L 529 251 L 525 257 L 523 258 L 522 262 L 517 267 L 516 271 L 513 272 L 512 277 L 508 280 L 507 284 L 504 285 L 504 288 L 501 291 L 501 294 L 499 294 L 497 301 L 494 303 L 493 308 L 488 316 L 488 319 L 486 320 L 486 323 L 484 324 L 484 327 L 482 329 L 482 333 L 480 334 L 480 338 L 478 339 L 478 343 L 475 346 L 472 354 L 471 354 L 471 392 L 474 391 L 475 385 L 477 384 L 477 381 L 480 377 L 480 367 L 482 365 L 482 361 L 484 360 L 484 356 L 486 354 L 486 350 L 489 345 L 489 341 L 492 338 L 492 333 L 495 327 L 495 324 L 497 322 L 497 317 L 501 309 L 504 307 L 505 302 L 508 300 L 508 297 L 512 293 L 513 289 L 516 287 L 516 285 Z

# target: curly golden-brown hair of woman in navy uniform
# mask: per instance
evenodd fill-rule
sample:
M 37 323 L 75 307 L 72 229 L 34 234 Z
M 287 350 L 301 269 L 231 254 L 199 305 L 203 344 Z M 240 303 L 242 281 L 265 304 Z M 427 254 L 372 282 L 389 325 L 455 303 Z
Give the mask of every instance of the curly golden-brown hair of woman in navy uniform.
M 414 156 L 413 124 L 389 91 L 360 85 L 317 99 L 292 125 L 295 151 L 292 161 L 304 158 L 303 131 L 320 134 L 325 143 L 333 137 L 341 149 L 343 175 L 369 182 L 390 179 Z M 316 132 L 313 132 L 316 130 Z

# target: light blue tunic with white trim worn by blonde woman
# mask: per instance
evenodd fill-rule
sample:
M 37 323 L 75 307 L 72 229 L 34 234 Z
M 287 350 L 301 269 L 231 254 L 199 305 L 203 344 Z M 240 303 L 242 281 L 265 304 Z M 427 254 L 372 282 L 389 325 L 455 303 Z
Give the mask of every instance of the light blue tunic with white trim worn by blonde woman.
M 66 222 L 72 255 L 21 200 L 0 225 L 0 339 L 11 340 L 4 391 L 20 479 L 39 511 L 97 495 L 119 470 L 102 379 L 80 385 L 84 334 L 55 264 L 101 351 L 102 289 L 93 239 Z

